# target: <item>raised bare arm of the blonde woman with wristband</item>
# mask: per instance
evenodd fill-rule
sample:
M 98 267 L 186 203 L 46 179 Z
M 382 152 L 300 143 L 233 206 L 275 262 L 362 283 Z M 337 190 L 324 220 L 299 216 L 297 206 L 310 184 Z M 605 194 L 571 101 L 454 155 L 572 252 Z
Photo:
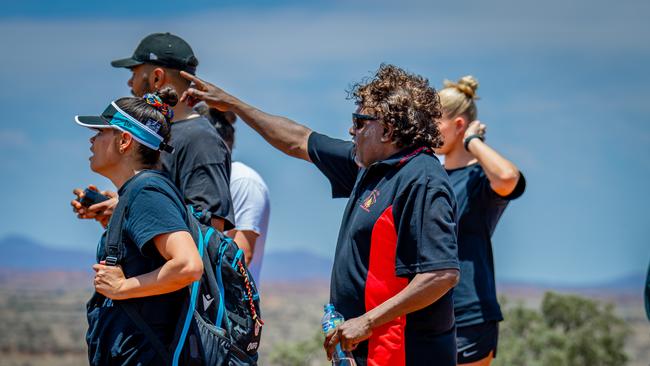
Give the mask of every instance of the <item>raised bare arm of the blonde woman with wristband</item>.
M 485 129 L 485 124 L 473 121 L 465 131 L 465 138 L 475 134 L 483 136 Z M 515 164 L 478 138 L 470 140 L 467 149 L 483 167 L 493 191 L 505 197 L 515 190 L 519 181 L 519 169 Z

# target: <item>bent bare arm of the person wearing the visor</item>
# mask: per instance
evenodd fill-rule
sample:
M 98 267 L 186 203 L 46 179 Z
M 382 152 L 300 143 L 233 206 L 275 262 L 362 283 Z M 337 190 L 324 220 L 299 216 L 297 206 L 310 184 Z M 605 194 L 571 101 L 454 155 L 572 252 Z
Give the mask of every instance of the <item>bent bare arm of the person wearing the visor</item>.
M 203 261 L 192 236 L 176 231 L 156 236 L 154 244 L 167 261 L 160 268 L 125 278 L 122 267 L 95 264 L 95 290 L 114 300 L 170 293 L 197 281 L 203 275 Z

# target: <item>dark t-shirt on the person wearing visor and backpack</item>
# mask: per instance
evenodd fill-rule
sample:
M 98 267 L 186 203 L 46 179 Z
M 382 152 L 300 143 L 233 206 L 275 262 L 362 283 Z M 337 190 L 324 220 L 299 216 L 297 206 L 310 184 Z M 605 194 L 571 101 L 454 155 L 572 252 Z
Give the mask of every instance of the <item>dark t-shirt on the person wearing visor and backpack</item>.
M 188 231 L 186 211 L 177 194 L 162 181 L 148 177 L 144 187 L 129 193 L 129 208 L 123 222 L 124 253 L 120 261 L 127 278 L 151 272 L 165 263 L 153 238 L 171 232 Z M 122 195 L 133 178 L 119 190 Z M 105 255 L 106 233 L 97 248 L 97 262 Z M 170 345 L 181 316 L 186 289 L 169 294 L 125 300 L 135 304 L 139 314 L 166 346 Z M 121 307 L 95 294 L 88 307 L 88 357 L 92 365 L 156 365 L 161 360 Z

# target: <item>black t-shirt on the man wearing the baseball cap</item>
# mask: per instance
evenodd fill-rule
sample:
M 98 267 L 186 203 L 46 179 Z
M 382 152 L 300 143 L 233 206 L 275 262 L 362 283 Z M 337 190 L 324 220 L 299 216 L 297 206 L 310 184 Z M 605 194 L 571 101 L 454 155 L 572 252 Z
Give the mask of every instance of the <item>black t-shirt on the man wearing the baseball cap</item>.
M 173 154 L 162 153 L 163 170 L 185 197 L 185 203 L 209 218 L 225 220 L 224 230 L 234 228 L 235 214 L 230 198 L 230 150 L 216 129 L 204 117 L 172 123 L 170 145 Z

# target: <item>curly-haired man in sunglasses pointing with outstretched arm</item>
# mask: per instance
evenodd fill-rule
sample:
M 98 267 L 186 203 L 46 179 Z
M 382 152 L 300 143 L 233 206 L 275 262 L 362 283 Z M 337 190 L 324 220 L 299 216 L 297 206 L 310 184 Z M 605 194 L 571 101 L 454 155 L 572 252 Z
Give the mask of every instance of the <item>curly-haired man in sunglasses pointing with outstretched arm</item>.
M 381 65 L 356 84 L 350 142 L 183 75 L 196 86 L 181 100 L 236 113 L 280 151 L 314 163 L 334 198 L 348 198 L 330 288 L 347 320 L 327 335 L 328 357 L 340 344 L 358 365 L 456 365 L 456 201 L 432 153 L 441 107 L 428 81 Z

